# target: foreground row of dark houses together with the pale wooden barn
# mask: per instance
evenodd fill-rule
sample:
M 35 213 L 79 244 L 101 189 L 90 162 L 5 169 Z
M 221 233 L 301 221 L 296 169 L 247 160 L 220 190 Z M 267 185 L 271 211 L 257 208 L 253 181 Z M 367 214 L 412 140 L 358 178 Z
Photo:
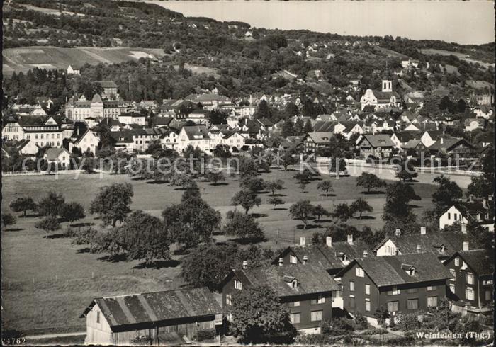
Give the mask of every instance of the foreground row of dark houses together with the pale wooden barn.
M 392 317 L 427 312 L 451 300 L 462 314 L 492 312 L 494 252 L 470 249 L 463 233 L 402 235 L 396 230 L 374 249 L 352 235 L 325 244 L 290 246 L 271 266 L 248 261 L 222 280 L 221 295 L 206 288 L 171 290 L 94 299 L 86 319 L 86 344 L 129 344 L 137 337 L 150 344 L 184 343 L 200 330 L 225 334 L 232 322 L 233 298 L 266 285 L 288 310 L 302 334 L 319 334 L 322 322 L 360 312 L 373 320 L 377 309 Z

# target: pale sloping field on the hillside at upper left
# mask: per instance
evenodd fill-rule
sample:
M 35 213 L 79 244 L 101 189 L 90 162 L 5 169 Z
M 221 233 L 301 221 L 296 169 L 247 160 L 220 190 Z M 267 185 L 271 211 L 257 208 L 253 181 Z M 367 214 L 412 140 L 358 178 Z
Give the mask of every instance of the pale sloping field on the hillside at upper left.
M 21 47 L 2 51 L 4 74 L 26 73 L 33 67 L 45 69 L 67 69 L 69 64 L 77 67 L 83 64 L 112 64 L 138 59 L 145 54 L 163 56 L 164 50 L 138 47 Z

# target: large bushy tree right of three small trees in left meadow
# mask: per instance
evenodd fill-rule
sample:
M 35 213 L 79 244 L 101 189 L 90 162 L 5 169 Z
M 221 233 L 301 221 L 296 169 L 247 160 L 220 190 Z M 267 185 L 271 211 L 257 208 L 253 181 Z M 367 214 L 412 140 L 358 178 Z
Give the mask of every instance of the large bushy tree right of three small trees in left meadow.
M 111 186 L 104 186 L 91 202 L 89 212 L 98 214 L 103 220 L 103 224 L 123 222 L 130 212 L 129 205 L 133 198 L 133 186 L 130 183 L 113 183 Z

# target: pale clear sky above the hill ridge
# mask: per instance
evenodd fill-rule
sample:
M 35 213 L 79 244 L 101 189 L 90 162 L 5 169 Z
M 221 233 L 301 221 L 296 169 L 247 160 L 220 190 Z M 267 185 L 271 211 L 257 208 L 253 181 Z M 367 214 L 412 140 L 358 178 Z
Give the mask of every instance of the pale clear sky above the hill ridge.
M 184 16 L 243 21 L 257 28 L 339 35 L 393 35 L 461 44 L 495 40 L 494 1 L 157 1 Z

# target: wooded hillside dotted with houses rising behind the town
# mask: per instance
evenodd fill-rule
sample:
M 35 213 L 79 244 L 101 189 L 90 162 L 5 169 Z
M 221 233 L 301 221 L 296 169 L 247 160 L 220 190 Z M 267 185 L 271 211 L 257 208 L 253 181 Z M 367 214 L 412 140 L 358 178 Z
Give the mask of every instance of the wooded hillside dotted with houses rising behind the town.
M 335 88 L 347 86 L 351 79 L 361 79 L 362 88 L 376 88 L 381 76 L 399 70 L 404 59 L 416 59 L 420 69 L 393 76 L 395 88 L 403 91 L 429 93 L 441 89 L 458 97 L 461 91 L 466 94 L 470 88 L 494 83 L 494 42 L 458 45 L 392 36 L 267 30 L 252 28 L 249 23 L 185 17 L 139 1 L 16 0 L 10 4 L 4 1 L 3 9 L 4 48 L 18 50 L 9 56 L 4 52 L 4 64 L 6 57 L 12 57 L 36 67 L 38 59 L 46 57 L 45 51 L 40 47 L 22 48 L 30 46 L 83 46 L 85 51 L 93 50 L 91 55 L 96 55 L 96 47 L 163 50 L 160 67 L 140 62 L 137 69 L 133 67 L 137 58 L 123 64 L 123 59 L 114 61 L 108 56 L 89 64 L 120 64 L 108 69 L 82 67 L 83 76 L 115 79 L 129 98 L 161 101 L 179 96 L 179 91 L 194 91 L 200 83 L 203 88 L 217 88 L 228 96 L 254 92 L 329 95 Z M 163 75 L 169 77 L 164 82 L 167 86 L 132 91 L 129 74 L 138 70 L 136 79 L 146 79 L 153 85 L 152 80 Z M 191 73 L 198 78 L 188 75 Z M 205 75 L 198 75 L 202 73 Z

